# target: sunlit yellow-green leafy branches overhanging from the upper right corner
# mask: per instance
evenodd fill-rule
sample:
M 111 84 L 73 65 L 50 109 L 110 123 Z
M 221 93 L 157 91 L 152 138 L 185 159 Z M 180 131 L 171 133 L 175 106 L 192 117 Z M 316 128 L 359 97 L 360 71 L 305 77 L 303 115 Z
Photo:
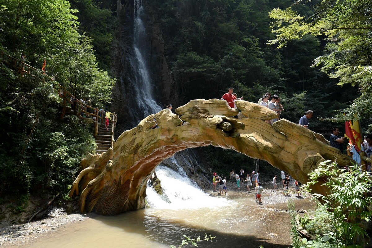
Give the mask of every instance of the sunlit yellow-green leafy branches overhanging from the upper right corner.
M 314 60 L 314 67 L 337 79 L 337 85 L 346 84 L 359 87 L 359 97 L 349 106 L 336 112 L 336 118 L 325 120 L 363 120 L 372 117 L 372 105 L 366 98 L 372 95 L 370 45 L 372 42 L 371 4 L 368 0 L 313 1 L 313 13 L 300 15 L 290 7 L 273 9 L 269 16 L 273 19 L 272 32 L 276 39 L 269 44 L 278 48 L 290 45 L 291 41 L 303 39 L 307 35 L 326 38 L 325 53 Z M 293 4 L 293 7 L 296 7 Z M 359 66 L 358 66 L 359 65 Z M 344 114 L 346 113 L 346 114 Z M 328 115 L 331 116 L 331 115 Z

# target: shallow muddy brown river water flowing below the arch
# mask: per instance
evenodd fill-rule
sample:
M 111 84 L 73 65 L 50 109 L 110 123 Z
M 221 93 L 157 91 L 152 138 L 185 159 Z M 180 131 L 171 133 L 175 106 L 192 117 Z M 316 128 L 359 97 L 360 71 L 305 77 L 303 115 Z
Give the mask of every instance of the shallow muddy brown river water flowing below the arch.
M 264 191 L 262 205 L 245 190 L 209 200 L 205 207 L 155 207 L 118 216 L 93 216 L 17 247 L 178 247 L 183 235 L 196 238 L 206 233 L 216 238 L 199 243 L 199 247 L 287 248 L 291 244 L 287 201 L 295 201 L 296 209 L 315 205 L 309 202 L 310 196 L 283 197 L 273 190 Z

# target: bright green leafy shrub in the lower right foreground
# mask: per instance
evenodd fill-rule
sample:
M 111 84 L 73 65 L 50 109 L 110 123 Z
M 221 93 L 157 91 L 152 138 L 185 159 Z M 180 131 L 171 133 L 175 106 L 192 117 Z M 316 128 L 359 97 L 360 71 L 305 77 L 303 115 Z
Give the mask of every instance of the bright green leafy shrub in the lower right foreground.
M 371 193 L 371 177 L 368 172 L 360 172 L 357 166 L 350 166 L 349 171 L 338 168 L 337 163 L 325 161 L 321 166 L 310 172 L 310 182 L 306 187 L 317 183 L 320 178 L 329 189 L 327 197 L 315 194 L 323 204 L 323 210 L 329 211 L 324 218 L 330 229 L 326 233 L 339 247 L 355 244 L 358 238 L 368 237 L 363 228 L 364 222 L 372 220 L 372 213 L 368 208 L 372 205 L 372 198 L 365 197 Z M 310 222 L 309 222 L 310 223 Z M 340 244 L 339 244 L 340 243 Z

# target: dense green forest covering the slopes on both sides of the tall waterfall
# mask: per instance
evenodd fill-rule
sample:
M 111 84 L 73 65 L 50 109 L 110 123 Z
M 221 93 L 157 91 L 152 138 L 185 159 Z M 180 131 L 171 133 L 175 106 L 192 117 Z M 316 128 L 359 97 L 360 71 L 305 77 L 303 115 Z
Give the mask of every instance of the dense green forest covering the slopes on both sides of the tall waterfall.
M 63 87 L 76 99 L 108 109 L 115 102 L 111 51 L 119 26 L 126 25 L 116 3 L 0 0 L 1 197 L 65 196 L 81 158 L 95 149 L 89 123 L 76 115 L 60 118 L 58 92 Z M 121 4 L 133 9 L 132 1 Z M 161 29 L 179 96 L 175 105 L 219 99 L 228 87 L 252 102 L 271 92 L 281 98 L 282 118 L 296 123 L 311 109 L 310 129 L 325 136 L 350 119 L 359 119 L 363 133 L 371 133 L 369 1 L 153 0 L 143 5 L 148 25 Z M 36 68 L 45 59 L 46 73 L 55 80 L 41 71 L 20 76 L 22 54 Z M 234 164 L 253 166 L 232 151 L 205 147 L 199 152 L 222 172 Z

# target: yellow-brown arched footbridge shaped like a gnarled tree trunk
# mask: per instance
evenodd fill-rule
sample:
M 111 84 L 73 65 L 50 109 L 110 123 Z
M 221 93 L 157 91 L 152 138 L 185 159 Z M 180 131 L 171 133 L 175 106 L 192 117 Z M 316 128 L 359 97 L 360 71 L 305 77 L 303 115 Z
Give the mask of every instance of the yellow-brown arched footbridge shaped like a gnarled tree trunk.
M 192 100 L 173 114 L 163 109 L 149 115 L 116 140 L 113 150 L 88 155 L 74 181 L 70 197 L 80 194 L 80 211 L 114 215 L 145 207 L 146 183 L 155 167 L 174 153 L 190 147 L 217 146 L 251 158 L 266 160 L 301 182 L 324 160 L 349 165 L 350 159 L 327 144 L 320 134 L 285 119 L 272 125 L 274 111 L 247 101 L 236 101 L 237 110 L 218 99 Z M 159 128 L 150 129 L 156 119 Z M 320 184 L 314 192 L 326 194 Z

